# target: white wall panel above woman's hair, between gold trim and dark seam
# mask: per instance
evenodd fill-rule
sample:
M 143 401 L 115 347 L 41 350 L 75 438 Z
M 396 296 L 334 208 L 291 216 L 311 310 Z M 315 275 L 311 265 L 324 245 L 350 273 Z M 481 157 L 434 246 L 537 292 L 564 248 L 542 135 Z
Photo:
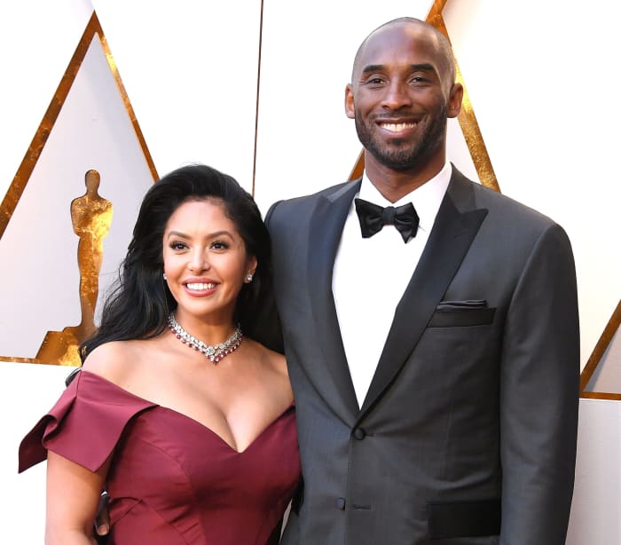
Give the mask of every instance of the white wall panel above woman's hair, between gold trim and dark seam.
M 250 190 L 260 2 L 93 4 L 159 175 L 204 162 Z

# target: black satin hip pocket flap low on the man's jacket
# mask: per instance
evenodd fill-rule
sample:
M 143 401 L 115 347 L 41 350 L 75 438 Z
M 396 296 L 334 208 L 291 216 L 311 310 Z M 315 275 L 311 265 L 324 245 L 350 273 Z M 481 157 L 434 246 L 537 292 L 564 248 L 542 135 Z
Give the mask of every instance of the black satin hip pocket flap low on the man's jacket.
M 500 500 L 432 502 L 428 509 L 428 533 L 432 540 L 499 535 Z

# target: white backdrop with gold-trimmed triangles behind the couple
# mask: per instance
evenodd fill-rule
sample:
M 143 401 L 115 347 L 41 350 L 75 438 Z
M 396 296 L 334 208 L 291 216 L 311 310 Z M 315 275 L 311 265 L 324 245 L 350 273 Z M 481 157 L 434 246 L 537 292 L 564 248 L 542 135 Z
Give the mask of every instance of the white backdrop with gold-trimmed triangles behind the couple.
M 86 191 L 86 171 L 98 170 L 98 194 L 113 205 L 100 298 L 158 175 L 208 163 L 253 191 L 263 212 L 347 179 L 360 153 L 343 109 L 351 62 L 368 32 L 395 17 L 442 15 L 472 114 L 466 136 L 451 123 L 450 158 L 566 228 L 582 365 L 596 353 L 618 377 L 620 351 L 609 350 L 618 346 L 611 317 L 621 298 L 621 39 L 612 8 L 585 0 L 3 3 L 2 541 L 43 542 L 44 464 L 18 476 L 17 447 L 71 368 L 36 361 L 44 339 L 81 321 L 70 204 Z M 621 542 L 619 393 L 581 399 L 571 545 Z

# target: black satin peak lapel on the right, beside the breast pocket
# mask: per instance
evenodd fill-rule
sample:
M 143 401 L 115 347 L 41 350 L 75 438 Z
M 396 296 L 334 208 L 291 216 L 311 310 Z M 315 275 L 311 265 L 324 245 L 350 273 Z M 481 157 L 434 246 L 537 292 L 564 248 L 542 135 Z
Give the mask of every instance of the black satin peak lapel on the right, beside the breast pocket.
M 458 175 L 453 178 L 461 177 L 460 173 Z M 395 318 L 358 421 L 373 407 L 405 365 L 487 216 L 487 209 L 473 209 L 474 202 L 465 212 L 460 212 L 455 206 L 453 198 L 457 198 L 456 201 L 464 197 L 474 200 L 474 197 L 468 197 L 471 194 L 469 183 L 454 180 L 453 187 L 449 186 L 444 196 L 419 265 L 397 304 Z

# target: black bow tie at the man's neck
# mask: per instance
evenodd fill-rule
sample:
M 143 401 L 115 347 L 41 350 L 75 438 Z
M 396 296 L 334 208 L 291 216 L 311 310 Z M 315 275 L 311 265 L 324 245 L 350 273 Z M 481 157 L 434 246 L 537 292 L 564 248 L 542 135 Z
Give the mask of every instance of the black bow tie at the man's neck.
M 354 203 L 364 239 L 379 233 L 384 225 L 395 225 L 397 231 L 401 233 L 404 242 L 416 236 L 416 231 L 419 228 L 419 216 L 412 202 L 408 202 L 398 208 L 389 206 L 385 209 L 377 204 L 373 204 L 373 202 L 363 201 L 362 199 L 354 199 Z

